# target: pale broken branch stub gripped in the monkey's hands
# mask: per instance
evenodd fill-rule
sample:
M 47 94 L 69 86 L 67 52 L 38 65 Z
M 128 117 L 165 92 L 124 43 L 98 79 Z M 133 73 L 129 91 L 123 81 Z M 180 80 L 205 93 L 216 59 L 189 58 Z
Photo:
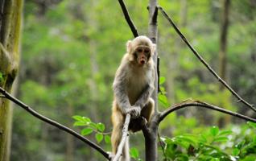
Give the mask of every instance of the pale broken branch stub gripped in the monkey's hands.
M 114 155 L 114 159 L 113 161 L 118 161 L 118 159 L 121 157 L 122 155 L 122 149 L 126 143 L 126 138 L 127 136 L 129 135 L 128 133 L 128 126 L 129 126 L 129 123 L 130 123 L 130 114 L 126 114 L 126 121 L 123 125 L 123 128 L 122 128 L 122 140 L 121 142 L 119 143 L 119 146 L 118 146 L 118 151 L 117 151 L 117 154 Z

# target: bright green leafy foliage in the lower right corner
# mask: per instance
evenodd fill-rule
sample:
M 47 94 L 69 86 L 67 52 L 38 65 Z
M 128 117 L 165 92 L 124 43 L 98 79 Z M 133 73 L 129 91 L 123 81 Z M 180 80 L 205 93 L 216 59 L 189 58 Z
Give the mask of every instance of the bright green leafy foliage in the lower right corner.
M 162 137 L 163 160 L 255 160 L 256 132 L 254 123 L 232 130 L 210 127 L 201 134 L 181 134 L 173 138 Z M 239 134 L 237 134 L 239 131 Z

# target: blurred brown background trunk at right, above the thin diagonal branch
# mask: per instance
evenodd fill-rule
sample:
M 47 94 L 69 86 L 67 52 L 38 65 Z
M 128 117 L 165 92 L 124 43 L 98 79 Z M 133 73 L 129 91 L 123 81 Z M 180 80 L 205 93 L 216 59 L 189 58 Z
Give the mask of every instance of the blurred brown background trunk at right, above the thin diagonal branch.
M 227 35 L 229 27 L 229 0 L 223 0 L 223 11 L 221 13 L 221 36 L 220 36 L 220 53 L 219 53 L 219 62 L 220 62 L 220 76 L 226 81 L 226 48 L 227 48 Z M 224 86 L 221 85 L 221 90 L 224 89 Z

